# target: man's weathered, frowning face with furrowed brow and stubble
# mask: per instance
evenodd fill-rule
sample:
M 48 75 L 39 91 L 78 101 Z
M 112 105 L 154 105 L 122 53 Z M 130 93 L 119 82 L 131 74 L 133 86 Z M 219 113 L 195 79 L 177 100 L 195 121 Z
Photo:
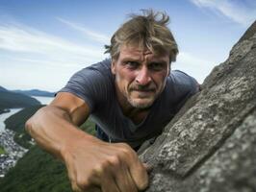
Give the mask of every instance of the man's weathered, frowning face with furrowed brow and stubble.
M 162 93 L 169 74 L 167 54 L 154 55 L 148 49 L 123 45 L 112 61 L 118 100 L 134 108 L 149 108 Z

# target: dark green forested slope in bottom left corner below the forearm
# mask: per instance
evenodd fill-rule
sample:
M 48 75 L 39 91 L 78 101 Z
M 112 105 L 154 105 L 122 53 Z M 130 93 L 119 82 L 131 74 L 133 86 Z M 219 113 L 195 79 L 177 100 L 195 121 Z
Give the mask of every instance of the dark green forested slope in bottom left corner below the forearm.
M 64 164 L 34 146 L 0 179 L 1 192 L 71 192 Z

